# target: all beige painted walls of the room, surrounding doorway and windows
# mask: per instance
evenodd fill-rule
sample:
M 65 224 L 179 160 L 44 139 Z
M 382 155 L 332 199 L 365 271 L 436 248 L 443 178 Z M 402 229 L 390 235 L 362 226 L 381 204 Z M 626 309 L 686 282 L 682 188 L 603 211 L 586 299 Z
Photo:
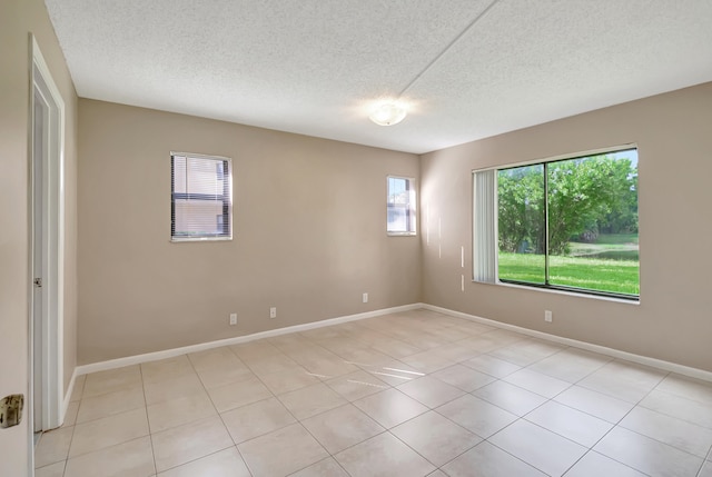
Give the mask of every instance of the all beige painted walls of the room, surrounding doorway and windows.
M 413 155 L 91 100 L 78 107 L 41 0 L 4 0 L 0 397 L 27 395 L 29 380 L 29 32 L 67 108 L 66 386 L 77 349 L 80 362 L 95 362 L 422 299 L 712 370 L 711 83 L 433 152 L 418 162 Z M 640 148 L 640 306 L 469 281 L 472 169 L 627 142 Z M 233 241 L 169 242 L 170 150 L 234 159 Z M 389 238 L 385 178 L 421 172 L 429 242 L 426 233 Z M 366 305 L 364 291 L 370 295 Z M 277 319 L 268 318 L 270 306 L 278 307 Z M 545 326 L 544 309 L 554 311 L 553 324 Z M 227 325 L 229 312 L 238 314 L 237 327 Z M 23 425 L 0 430 L 1 475 L 26 473 L 28 424 L 26 414 Z

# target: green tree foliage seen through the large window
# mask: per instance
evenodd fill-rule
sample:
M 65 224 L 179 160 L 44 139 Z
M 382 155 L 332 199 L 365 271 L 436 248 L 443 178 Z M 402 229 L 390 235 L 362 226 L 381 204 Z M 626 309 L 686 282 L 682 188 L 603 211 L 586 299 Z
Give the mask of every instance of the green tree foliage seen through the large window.
M 637 170 L 630 159 L 591 156 L 544 166 L 498 171 L 498 242 L 507 252 L 545 254 L 548 200 L 548 254 L 567 255 L 572 238 L 584 232 L 637 232 Z

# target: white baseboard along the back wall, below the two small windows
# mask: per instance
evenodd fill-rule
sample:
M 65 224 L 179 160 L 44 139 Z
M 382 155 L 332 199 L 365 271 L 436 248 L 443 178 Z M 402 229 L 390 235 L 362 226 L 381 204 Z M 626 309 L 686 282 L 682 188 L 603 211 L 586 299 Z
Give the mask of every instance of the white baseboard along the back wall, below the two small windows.
M 123 366 L 139 365 L 141 362 L 157 361 L 159 359 L 172 358 L 189 352 L 205 351 L 206 349 L 219 348 L 221 346 L 238 345 L 240 342 L 254 341 L 256 339 L 271 338 L 274 336 L 288 335 L 290 332 L 307 331 L 310 329 L 323 328 L 326 326 L 339 325 L 359 319 L 374 318 L 383 315 L 395 314 L 399 311 L 409 311 L 424 308 L 423 304 L 404 305 L 399 307 L 383 308 L 374 311 L 366 311 L 357 315 L 347 315 L 337 318 L 325 319 L 320 321 L 307 322 L 304 325 L 288 326 L 285 328 L 270 329 L 267 331 L 255 332 L 253 335 L 236 336 L 235 338 L 226 338 L 217 341 L 201 342 L 198 345 L 184 346 L 180 348 L 166 349 L 162 351 L 147 352 L 145 355 L 127 356 L 126 358 L 110 359 L 108 361 L 92 362 L 90 365 L 77 366 L 72 376 L 70 390 L 73 388 L 75 377 L 88 375 L 89 372 L 106 371 L 108 369 L 122 368 Z M 68 394 L 71 396 L 71 394 Z M 69 398 L 65 398 L 65 411 L 69 406 Z

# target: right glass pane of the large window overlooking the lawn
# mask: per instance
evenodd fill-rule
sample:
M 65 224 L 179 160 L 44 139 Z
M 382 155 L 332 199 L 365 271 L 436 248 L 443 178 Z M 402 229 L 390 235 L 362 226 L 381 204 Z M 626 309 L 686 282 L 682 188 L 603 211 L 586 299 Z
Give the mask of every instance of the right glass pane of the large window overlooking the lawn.
M 547 168 L 550 284 L 639 295 L 637 151 Z

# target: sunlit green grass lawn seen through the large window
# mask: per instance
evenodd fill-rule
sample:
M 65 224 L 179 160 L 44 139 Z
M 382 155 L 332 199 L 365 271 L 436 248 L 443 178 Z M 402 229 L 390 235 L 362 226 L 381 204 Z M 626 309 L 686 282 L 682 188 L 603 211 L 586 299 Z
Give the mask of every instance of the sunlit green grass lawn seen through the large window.
M 550 257 L 550 284 L 639 295 L 639 261 L 587 257 Z M 500 279 L 544 282 L 544 256 L 500 252 Z

